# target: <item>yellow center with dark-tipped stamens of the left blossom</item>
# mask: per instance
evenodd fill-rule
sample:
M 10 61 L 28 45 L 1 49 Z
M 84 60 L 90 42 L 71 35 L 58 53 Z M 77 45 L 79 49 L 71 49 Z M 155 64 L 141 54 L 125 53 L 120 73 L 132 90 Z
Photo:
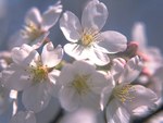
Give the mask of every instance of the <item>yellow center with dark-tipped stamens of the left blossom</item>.
M 37 67 L 32 67 L 30 70 L 33 74 L 33 82 L 40 83 L 48 77 L 48 69 L 42 65 L 38 65 Z

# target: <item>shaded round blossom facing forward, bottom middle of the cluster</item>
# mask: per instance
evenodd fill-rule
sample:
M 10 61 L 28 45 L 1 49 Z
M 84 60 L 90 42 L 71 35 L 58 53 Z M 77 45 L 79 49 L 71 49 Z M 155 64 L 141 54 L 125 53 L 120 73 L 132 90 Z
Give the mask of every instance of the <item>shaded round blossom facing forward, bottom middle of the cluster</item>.
M 100 110 L 100 94 L 108 85 L 103 74 L 93 65 L 84 61 L 75 61 L 63 66 L 58 83 L 61 106 L 67 111 L 78 108 Z

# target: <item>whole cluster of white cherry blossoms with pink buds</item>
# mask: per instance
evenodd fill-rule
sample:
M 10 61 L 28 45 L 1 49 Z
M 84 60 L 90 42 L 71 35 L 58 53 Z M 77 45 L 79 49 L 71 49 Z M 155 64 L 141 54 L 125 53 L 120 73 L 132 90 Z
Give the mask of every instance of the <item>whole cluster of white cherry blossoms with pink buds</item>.
M 147 45 L 141 23 L 134 26 L 130 42 L 116 30 L 102 32 L 108 15 L 99 0 L 86 4 L 80 21 L 63 12 L 60 1 L 43 13 L 32 8 L 11 51 L 0 54 L 0 113 L 12 106 L 10 123 L 37 123 L 36 114 L 54 98 L 67 114 L 61 123 L 96 123 L 92 112 L 101 114 L 103 123 L 129 123 L 133 115 L 158 108 L 162 54 Z M 64 46 L 49 38 L 57 22 L 67 40 Z M 75 120 L 85 113 L 88 120 Z

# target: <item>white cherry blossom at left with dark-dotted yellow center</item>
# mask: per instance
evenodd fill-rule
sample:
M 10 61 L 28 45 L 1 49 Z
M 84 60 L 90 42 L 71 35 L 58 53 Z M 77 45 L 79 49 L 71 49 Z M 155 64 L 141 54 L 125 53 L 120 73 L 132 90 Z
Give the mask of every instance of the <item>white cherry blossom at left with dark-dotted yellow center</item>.
M 27 110 L 39 112 L 49 103 L 60 71 L 53 69 L 63 57 L 61 46 L 43 46 L 42 53 L 28 45 L 12 49 L 13 64 L 2 72 L 5 87 L 23 90 L 22 101 Z

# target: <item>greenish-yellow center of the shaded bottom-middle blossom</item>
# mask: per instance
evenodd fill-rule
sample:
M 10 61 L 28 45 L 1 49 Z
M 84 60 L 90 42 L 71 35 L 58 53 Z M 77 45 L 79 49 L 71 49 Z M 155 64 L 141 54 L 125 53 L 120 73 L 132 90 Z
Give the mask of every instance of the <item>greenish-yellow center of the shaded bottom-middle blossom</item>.
M 76 75 L 72 86 L 76 89 L 78 94 L 86 94 L 89 90 L 89 86 L 87 84 L 87 79 L 89 78 L 89 75 Z

